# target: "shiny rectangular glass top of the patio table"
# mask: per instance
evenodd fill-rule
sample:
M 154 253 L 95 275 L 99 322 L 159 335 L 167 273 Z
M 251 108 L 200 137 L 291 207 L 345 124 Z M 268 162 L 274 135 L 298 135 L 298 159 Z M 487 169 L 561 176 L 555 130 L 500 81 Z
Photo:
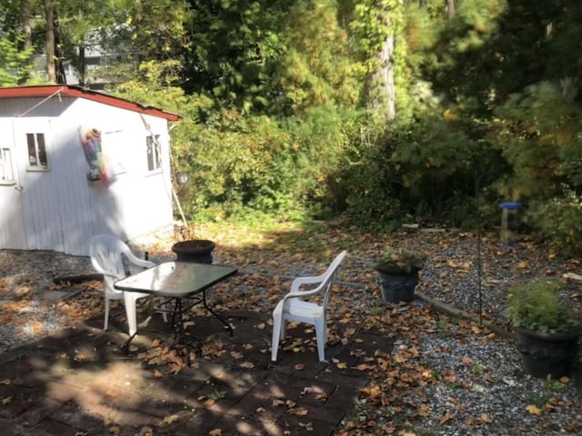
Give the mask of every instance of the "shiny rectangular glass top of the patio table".
M 236 271 L 235 267 L 226 265 L 166 262 L 115 282 L 115 288 L 167 297 L 187 297 L 225 280 Z

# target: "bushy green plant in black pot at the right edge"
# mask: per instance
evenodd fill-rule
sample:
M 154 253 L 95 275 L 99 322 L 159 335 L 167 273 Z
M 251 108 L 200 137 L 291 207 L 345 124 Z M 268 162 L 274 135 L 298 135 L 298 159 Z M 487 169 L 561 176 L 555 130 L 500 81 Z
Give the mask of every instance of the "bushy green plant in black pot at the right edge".
M 582 313 L 572 304 L 567 282 L 536 277 L 514 285 L 507 297 L 507 320 L 514 328 L 524 370 L 534 377 L 569 374 L 582 334 Z

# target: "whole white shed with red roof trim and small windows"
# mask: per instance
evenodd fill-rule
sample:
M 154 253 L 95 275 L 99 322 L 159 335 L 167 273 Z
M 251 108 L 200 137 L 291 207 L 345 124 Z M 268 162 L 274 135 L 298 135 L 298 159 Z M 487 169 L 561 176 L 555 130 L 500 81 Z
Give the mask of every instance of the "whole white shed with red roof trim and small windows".
M 88 255 L 97 233 L 171 225 L 178 119 L 76 86 L 0 88 L 0 249 Z

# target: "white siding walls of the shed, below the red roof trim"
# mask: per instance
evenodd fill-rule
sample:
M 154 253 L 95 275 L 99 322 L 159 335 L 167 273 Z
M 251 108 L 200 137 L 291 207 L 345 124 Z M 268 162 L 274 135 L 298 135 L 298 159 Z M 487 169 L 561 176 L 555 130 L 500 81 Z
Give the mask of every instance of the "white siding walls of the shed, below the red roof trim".
M 172 223 L 172 191 L 167 121 L 83 98 L 0 99 L 0 119 L 12 118 L 17 136 L 18 175 L 23 191 L 10 195 L 0 187 L 0 248 L 48 249 L 88 255 L 89 241 L 97 233 L 115 233 L 125 240 Z M 31 111 L 30 109 L 34 109 Z M 28 112 L 27 112 L 28 111 Z M 147 173 L 146 124 L 163 144 L 162 171 Z M 124 173 L 105 186 L 86 178 L 87 163 L 79 127 L 95 127 L 104 138 L 116 137 L 110 155 Z M 31 130 L 32 129 L 32 130 Z M 26 171 L 26 132 L 50 136 L 48 172 Z M 123 140 L 119 140 L 123 138 Z M 48 144 L 48 143 L 47 143 Z M 20 204 L 20 206 L 19 206 Z M 5 210 L 10 210 L 10 221 Z M 25 228 L 20 241 L 8 242 L 6 227 L 20 220 Z M 18 239 L 18 238 L 16 238 Z M 13 248 L 13 247 L 9 247 Z

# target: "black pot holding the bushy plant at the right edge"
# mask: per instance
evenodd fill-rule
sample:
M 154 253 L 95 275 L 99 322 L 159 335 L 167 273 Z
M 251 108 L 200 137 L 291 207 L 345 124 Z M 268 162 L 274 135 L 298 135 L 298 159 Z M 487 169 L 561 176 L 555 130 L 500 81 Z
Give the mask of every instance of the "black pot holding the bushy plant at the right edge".
M 580 332 L 541 333 L 516 327 L 524 370 L 537 378 L 559 379 L 574 369 Z

